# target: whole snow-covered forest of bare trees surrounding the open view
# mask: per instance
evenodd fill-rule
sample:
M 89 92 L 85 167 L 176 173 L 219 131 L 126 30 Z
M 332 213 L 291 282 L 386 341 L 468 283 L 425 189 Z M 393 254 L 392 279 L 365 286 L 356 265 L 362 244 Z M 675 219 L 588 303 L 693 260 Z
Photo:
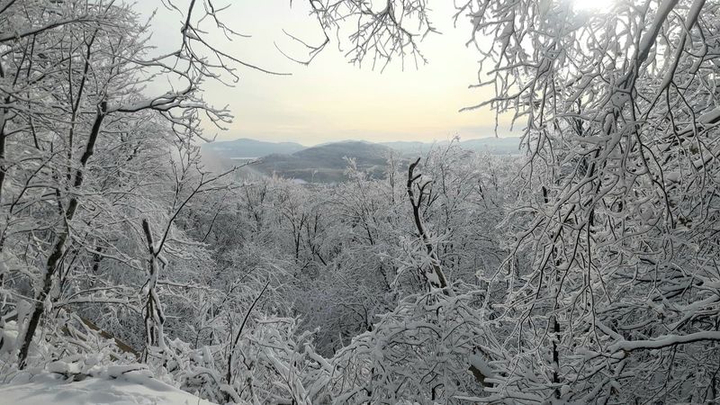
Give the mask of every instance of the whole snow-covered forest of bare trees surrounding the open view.
M 202 161 L 204 85 L 277 73 L 211 40 L 232 4 L 158 2 L 160 52 L 129 2 L 0 0 L 0 402 L 720 401 L 720 1 L 579 1 L 455 0 L 517 156 L 297 184 Z M 311 0 L 297 61 L 421 67 L 432 5 Z

